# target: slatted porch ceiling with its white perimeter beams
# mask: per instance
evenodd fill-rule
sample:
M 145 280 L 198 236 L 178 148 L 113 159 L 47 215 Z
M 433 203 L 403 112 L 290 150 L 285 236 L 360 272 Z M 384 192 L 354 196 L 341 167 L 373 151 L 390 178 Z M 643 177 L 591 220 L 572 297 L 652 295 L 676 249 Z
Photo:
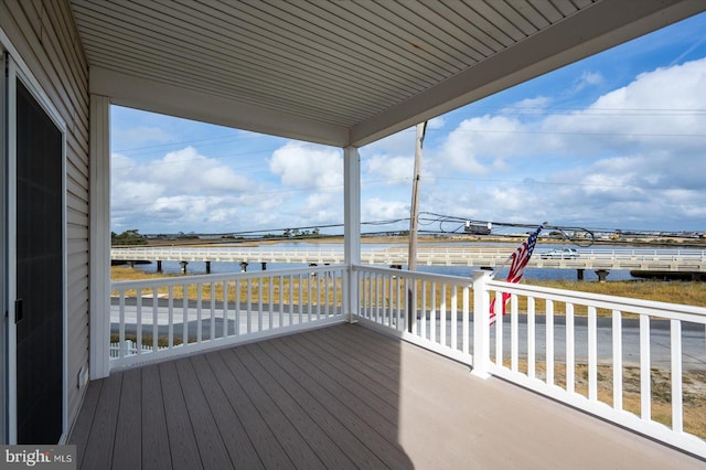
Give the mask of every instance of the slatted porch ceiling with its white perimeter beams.
M 706 10 L 695 0 L 71 0 L 117 105 L 363 146 Z

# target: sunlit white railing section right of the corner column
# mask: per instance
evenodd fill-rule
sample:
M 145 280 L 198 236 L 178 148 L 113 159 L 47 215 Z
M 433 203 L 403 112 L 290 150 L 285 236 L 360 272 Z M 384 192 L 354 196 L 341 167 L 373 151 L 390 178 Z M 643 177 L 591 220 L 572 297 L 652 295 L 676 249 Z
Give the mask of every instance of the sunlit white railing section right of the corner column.
M 355 266 L 359 319 L 706 457 L 706 309 Z M 513 296 L 490 325 L 490 299 Z M 675 299 L 677 300 L 677 299 Z M 415 312 L 408 316 L 407 312 Z M 472 397 L 469 397 L 472 399 Z

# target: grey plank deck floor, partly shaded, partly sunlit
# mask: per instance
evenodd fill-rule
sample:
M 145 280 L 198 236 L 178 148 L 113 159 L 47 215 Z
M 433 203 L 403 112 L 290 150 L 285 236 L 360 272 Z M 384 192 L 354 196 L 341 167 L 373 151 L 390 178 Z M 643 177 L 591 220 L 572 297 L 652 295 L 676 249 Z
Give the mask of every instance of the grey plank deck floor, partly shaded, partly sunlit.
M 351 324 L 113 373 L 69 442 L 90 470 L 705 466 Z

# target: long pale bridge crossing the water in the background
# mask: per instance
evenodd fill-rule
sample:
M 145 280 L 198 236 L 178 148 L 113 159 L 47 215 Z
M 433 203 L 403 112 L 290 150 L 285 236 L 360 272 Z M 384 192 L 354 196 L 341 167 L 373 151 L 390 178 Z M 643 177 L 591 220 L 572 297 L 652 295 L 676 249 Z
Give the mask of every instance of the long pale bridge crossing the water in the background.
M 504 246 L 443 246 L 421 245 L 417 250 L 417 264 L 427 266 L 463 266 L 495 268 L 507 261 L 514 245 Z M 592 269 L 607 275 L 610 270 L 640 270 L 665 273 L 706 273 L 706 250 L 673 248 L 579 248 L 573 258 L 544 258 L 547 248 L 537 246 L 528 267 L 550 269 Z M 344 263 L 343 245 L 325 247 L 128 247 L 110 250 L 114 261 L 205 261 L 210 263 L 268 263 L 336 265 Z M 377 266 L 407 265 L 407 247 L 391 246 L 366 248 L 362 246 L 361 263 Z M 185 268 L 185 264 L 182 265 Z

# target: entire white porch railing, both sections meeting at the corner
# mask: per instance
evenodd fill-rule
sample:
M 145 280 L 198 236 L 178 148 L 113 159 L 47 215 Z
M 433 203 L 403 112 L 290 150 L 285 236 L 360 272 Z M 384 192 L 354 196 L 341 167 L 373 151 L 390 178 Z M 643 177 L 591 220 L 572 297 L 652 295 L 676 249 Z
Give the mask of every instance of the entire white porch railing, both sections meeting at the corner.
M 353 313 L 472 365 L 474 375 L 503 377 L 706 457 L 704 431 L 693 431 L 706 414 L 704 308 L 507 284 L 486 273 L 464 279 L 370 266 L 121 281 L 111 289 L 111 341 L 136 344 L 118 348 L 111 367 Z M 503 291 L 512 293 L 507 314 L 490 325 L 490 299 Z M 349 293 L 357 299 L 353 312 Z

